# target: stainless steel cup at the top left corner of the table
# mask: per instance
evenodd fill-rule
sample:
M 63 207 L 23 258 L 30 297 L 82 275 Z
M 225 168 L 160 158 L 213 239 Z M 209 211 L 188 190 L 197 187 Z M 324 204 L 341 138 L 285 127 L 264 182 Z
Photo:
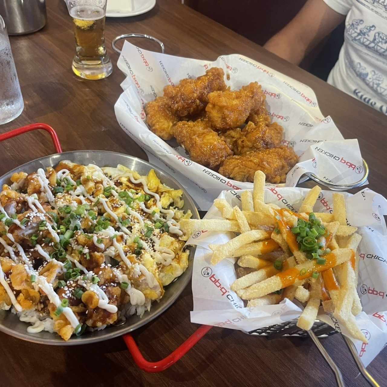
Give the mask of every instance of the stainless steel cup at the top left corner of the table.
M 46 25 L 46 0 L 0 0 L 0 15 L 9 35 L 30 34 Z

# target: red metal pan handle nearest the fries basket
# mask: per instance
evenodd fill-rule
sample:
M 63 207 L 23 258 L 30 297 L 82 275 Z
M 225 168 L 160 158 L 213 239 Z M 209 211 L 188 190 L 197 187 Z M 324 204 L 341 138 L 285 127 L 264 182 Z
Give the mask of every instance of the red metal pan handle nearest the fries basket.
M 211 325 L 201 325 L 196 332 L 194 332 L 188 339 L 183 342 L 180 347 L 176 348 L 170 355 L 160 361 L 147 361 L 142 356 L 139 347 L 134 341 L 132 335 L 127 333 L 122 336 L 125 344 L 127 345 L 130 354 L 133 356 L 135 363 L 146 372 L 161 372 L 175 364 L 180 358 L 182 358 L 210 329 Z

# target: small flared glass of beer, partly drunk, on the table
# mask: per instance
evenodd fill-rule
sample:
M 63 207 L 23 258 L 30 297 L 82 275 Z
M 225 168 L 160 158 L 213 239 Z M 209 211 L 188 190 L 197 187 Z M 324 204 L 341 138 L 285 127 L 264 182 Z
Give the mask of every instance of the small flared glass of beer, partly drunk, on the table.
M 103 79 L 113 71 L 104 38 L 106 2 L 66 0 L 75 34 L 72 70 L 81 78 Z

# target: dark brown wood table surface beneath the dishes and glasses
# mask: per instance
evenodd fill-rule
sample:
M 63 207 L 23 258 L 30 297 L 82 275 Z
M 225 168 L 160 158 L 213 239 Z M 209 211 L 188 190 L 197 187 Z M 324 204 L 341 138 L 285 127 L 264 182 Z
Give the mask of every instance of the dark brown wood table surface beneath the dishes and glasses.
M 71 70 L 74 55 L 72 24 L 63 0 L 47 2 L 48 23 L 34 34 L 10 37 L 25 108 L 0 132 L 45 122 L 57 131 L 64 151 L 103 149 L 145 158 L 145 153 L 116 122 L 113 105 L 121 93 L 123 74 L 114 68 L 105 80 L 87 81 Z M 248 10 L 244 10 L 248 12 Z M 232 17 L 232 15 L 230 15 Z M 345 138 L 358 138 L 370 166 L 370 188 L 387 195 L 385 146 L 387 118 L 329 86 L 313 75 L 268 53 L 260 46 L 207 19 L 178 0 L 158 0 L 147 14 L 107 19 L 110 48 L 123 33 L 146 33 L 161 39 L 166 53 L 214 60 L 240 53 L 312 87 L 324 115 L 331 115 Z M 158 50 L 152 42 L 135 41 Z M 53 152 L 44 132 L 25 134 L 0 144 L 0 174 Z M 191 286 L 176 303 L 146 327 L 134 332 L 144 356 L 157 361 L 180 345 L 197 328 L 191 324 Z M 343 370 L 348 386 L 364 386 L 340 335 L 323 339 L 325 348 Z M 0 386 L 334 386 L 329 366 L 311 340 L 281 338 L 268 341 L 234 330 L 213 328 L 169 370 L 152 374 L 134 364 L 122 339 L 76 347 L 51 347 L 0 333 Z M 384 385 L 387 353 L 368 367 Z

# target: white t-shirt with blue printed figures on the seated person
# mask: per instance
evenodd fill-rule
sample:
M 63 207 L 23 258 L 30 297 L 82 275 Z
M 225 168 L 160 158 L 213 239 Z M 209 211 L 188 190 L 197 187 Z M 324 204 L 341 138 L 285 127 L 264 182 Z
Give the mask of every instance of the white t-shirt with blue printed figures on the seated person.
M 324 0 L 347 15 L 328 83 L 387 115 L 387 0 Z

